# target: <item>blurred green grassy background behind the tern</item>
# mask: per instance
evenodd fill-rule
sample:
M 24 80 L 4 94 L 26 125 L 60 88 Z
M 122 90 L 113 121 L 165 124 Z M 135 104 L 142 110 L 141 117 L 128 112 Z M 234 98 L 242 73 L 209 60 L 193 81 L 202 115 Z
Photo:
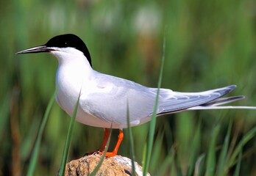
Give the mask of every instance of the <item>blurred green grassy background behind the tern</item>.
M 157 87 L 163 36 L 166 62 L 163 86 L 180 92 L 238 85 L 245 95 L 234 105 L 256 106 L 256 1 L 1 1 L 0 175 L 25 175 L 46 106 L 54 93 L 57 59 L 49 54 L 15 53 L 46 43 L 57 34 L 74 33 L 85 41 L 93 68 Z M 201 138 L 196 158 L 207 153 L 220 124 L 221 147 L 230 119 L 231 138 L 256 126 L 256 111 L 190 111 L 157 118 L 150 167 L 160 172 L 171 150 L 185 175 L 197 125 Z M 43 135 L 35 175 L 56 175 L 71 118 L 54 104 Z M 149 124 L 132 128 L 135 160 L 141 164 Z M 118 131 L 113 131 L 115 143 Z M 127 130 L 118 152 L 129 157 Z M 103 130 L 75 124 L 68 161 L 99 149 Z M 232 143 L 230 142 L 230 143 Z M 113 147 L 113 144 L 110 148 Z M 256 137 L 243 147 L 241 173 L 256 175 Z M 218 157 L 218 156 L 217 156 Z M 170 169 L 170 168 L 169 168 Z M 165 174 L 170 173 L 168 170 Z M 179 172 L 177 172 L 179 173 Z M 232 167 L 227 169 L 232 175 Z

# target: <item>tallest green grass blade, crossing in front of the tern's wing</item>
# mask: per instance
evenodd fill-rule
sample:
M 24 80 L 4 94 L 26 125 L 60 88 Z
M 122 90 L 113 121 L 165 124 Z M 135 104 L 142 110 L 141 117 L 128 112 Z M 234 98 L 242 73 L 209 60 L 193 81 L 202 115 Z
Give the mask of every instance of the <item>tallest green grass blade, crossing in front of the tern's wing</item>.
M 152 146 L 153 146 L 154 131 L 155 131 L 155 124 L 156 124 L 156 117 L 157 117 L 157 106 L 158 106 L 160 87 L 162 84 L 163 64 L 164 64 L 165 56 L 166 56 L 166 36 L 163 37 L 163 56 L 160 64 L 160 74 L 159 74 L 159 79 L 157 84 L 157 96 L 155 98 L 154 111 L 151 117 L 151 121 L 149 123 L 149 142 L 146 147 L 146 161 L 144 162 L 145 166 L 143 167 L 143 175 L 146 175 L 149 170 L 149 163 L 152 155 Z

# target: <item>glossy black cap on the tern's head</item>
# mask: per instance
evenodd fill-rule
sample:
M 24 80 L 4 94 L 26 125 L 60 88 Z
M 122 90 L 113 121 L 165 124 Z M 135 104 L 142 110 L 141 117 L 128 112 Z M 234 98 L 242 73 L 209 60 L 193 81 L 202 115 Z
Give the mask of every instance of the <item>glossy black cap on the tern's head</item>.
M 87 46 L 75 34 L 61 34 L 61 35 L 52 37 L 46 43 L 46 46 L 47 47 L 59 47 L 59 48 L 67 48 L 67 47 L 76 48 L 79 51 L 82 51 L 83 54 L 85 54 L 86 58 L 88 59 L 88 62 L 90 63 L 90 66 L 92 66 L 91 59 L 90 59 L 90 53 L 88 51 Z

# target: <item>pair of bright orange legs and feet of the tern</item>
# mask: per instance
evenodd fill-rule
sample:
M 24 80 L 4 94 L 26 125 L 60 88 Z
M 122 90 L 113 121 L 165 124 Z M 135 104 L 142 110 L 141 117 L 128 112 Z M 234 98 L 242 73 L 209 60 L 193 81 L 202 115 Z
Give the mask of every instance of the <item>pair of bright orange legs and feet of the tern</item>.
M 104 150 L 105 148 L 105 145 L 107 144 L 107 139 L 106 139 L 106 136 L 108 138 L 108 136 L 110 135 L 109 131 L 107 128 L 104 128 L 104 141 L 103 141 L 103 144 L 102 144 L 102 149 Z M 106 132 L 107 131 L 107 132 Z M 119 134 L 118 134 L 118 142 L 116 142 L 115 144 L 115 148 L 113 150 L 113 152 L 107 152 L 106 153 L 106 157 L 109 158 L 109 157 L 113 157 L 115 156 L 117 153 L 118 153 L 118 149 L 119 149 L 119 146 L 122 142 L 122 140 L 124 139 L 124 133 L 122 130 L 119 130 Z M 103 151 L 102 150 L 102 151 Z M 100 155 L 102 155 L 103 152 L 99 152 Z

